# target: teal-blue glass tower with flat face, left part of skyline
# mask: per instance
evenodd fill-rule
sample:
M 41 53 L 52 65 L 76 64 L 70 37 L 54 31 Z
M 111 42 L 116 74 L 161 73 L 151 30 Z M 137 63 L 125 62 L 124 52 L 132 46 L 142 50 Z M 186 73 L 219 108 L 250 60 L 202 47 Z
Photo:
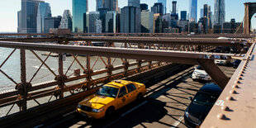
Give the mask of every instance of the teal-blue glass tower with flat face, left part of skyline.
M 84 32 L 84 20 L 88 12 L 88 0 L 73 0 L 73 32 Z

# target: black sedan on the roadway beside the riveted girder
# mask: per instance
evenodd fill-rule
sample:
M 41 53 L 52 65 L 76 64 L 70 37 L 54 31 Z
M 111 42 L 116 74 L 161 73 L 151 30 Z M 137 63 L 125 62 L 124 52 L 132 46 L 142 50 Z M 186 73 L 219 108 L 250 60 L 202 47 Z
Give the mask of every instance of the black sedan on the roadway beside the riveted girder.
M 192 102 L 185 111 L 184 120 L 186 126 L 201 126 L 202 121 L 205 120 L 221 92 L 222 90 L 215 83 L 206 83 L 205 86 L 200 88 L 193 99 L 189 97 Z

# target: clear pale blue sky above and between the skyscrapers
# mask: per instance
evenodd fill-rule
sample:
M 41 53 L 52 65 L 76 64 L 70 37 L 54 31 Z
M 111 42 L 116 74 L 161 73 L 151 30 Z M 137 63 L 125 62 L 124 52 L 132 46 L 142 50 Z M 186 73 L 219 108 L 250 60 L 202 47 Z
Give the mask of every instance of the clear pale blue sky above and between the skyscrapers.
M 128 0 L 119 0 L 119 7 L 127 5 Z M 167 11 L 171 8 L 171 2 L 173 0 L 167 0 Z M 72 0 L 45 0 L 50 3 L 53 16 L 62 15 L 65 9 L 72 11 Z M 89 11 L 95 11 L 96 0 L 88 0 Z M 141 3 L 149 4 L 152 7 L 157 0 L 140 0 Z M 178 12 L 188 11 L 189 0 L 177 0 Z M 255 0 L 225 0 L 226 8 L 226 21 L 230 21 L 230 18 L 235 18 L 236 21 L 243 21 L 244 18 L 244 2 L 255 2 Z M 209 4 L 211 11 L 214 9 L 214 0 L 198 0 L 197 15 L 200 16 L 200 9 L 203 4 Z M 15 32 L 17 31 L 17 12 L 21 10 L 21 0 L 1 0 L 0 2 L 0 32 Z M 256 28 L 256 18 L 253 17 L 253 27 Z

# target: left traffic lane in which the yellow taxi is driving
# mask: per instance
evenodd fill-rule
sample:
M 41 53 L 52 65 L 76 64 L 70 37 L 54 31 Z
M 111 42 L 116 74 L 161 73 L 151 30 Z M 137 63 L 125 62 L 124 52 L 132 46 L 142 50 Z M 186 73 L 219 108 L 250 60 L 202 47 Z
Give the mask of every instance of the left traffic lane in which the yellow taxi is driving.
M 159 93 L 163 93 L 164 89 L 169 89 L 173 87 L 164 88 L 164 84 L 172 83 L 174 80 L 182 80 L 184 75 L 187 75 L 189 77 L 192 73 L 192 66 L 189 65 L 183 65 L 177 69 L 173 69 L 172 72 L 164 73 L 163 75 L 157 77 L 157 78 L 151 78 L 147 82 L 145 82 L 145 85 L 148 88 L 147 96 L 151 96 L 150 98 L 158 97 Z M 190 68 L 190 69 L 189 69 Z M 187 69 L 189 71 L 187 72 Z M 174 85 L 174 84 L 173 84 Z M 161 87 L 158 87 L 161 86 Z M 162 89 L 164 88 L 164 89 Z M 159 92 L 159 93 L 158 93 Z M 147 98 L 145 98 L 147 99 Z M 149 101 L 149 100 L 146 100 Z M 116 111 L 116 114 L 114 116 L 111 116 L 111 118 L 103 118 L 101 120 L 93 120 L 90 118 L 86 118 L 83 116 L 77 116 L 75 114 L 71 114 L 69 116 L 64 117 L 63 119 L 58 119 L 56 121 L 49 122 L 48 125 L 45 125 L 45 127 L 104 127 L 104 126 L 110 126 L 113 124 L 113 122 L 118 121 L 123 116 L 126 116 L 128 112 L 132 112 L 130 110 L 134 109 L 135 107 L 140 106 L 138 102 L 133 102 L 127 107 L 121 108 L 121 110 Z M 146 103 L 148 104 L 148 103 Z M 146 106 L 145 104 L 145 106 Z M 126 115 L 124 115 L 126 113 Z

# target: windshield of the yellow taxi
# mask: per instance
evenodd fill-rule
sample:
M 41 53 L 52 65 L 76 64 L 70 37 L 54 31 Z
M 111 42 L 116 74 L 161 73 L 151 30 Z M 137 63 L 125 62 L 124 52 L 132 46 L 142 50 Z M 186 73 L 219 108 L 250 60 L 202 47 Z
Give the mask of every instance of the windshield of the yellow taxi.
M 113 88 L 109 86 L 102 86 L 102 88 L 97 91 L 97 95 L 106 96 L 106 97 L 116 97 L 118 88 Z

